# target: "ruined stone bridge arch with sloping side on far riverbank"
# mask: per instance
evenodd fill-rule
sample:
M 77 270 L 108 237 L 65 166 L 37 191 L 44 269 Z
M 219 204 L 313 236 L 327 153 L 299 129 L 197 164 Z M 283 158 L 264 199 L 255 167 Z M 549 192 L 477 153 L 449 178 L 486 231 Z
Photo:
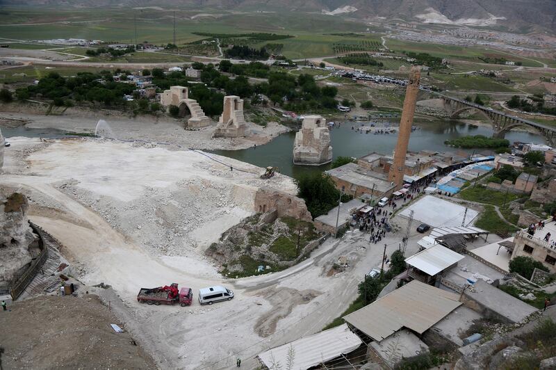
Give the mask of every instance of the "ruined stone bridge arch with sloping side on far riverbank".
M 183 86 L 170 86 L 170 90 L 164 90 L 161 94 L 161 104 L 165 108 L 174 105 L 179 108 L 180 117 L 185 117 L 189 111 L 191 117 L 187 120 L 188 128 L 206 127 L 211 124 L 201 106 L 193 99 L 189 99 L 189 90 Z

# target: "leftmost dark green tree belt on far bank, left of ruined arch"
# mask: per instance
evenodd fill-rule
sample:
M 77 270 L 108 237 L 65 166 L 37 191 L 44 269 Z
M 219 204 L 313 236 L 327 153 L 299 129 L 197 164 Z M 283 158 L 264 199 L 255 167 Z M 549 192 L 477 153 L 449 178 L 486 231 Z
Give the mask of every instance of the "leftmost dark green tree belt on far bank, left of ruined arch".
M 124 74 L 125 78 L 125 74 Z M 71 106 L 75 102 L 104 103 L 124 105 L 124 95 L 131 95 L 135 87 L 129 83 L 116 82 L 112 72 L 79 72 L 76 77 L 62 77 L 57 72 L 50 72 L 39 80 L 37 85 L 26 86 L 16 90 L 17 99 L 29 97 L 46 97 L 52 99 L 56 106 Z

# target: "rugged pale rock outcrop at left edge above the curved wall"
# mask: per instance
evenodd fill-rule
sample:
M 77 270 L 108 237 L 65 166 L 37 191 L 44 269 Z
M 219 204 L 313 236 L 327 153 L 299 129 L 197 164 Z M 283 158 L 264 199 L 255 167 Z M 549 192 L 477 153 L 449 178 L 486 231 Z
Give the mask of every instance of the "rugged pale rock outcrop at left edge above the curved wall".
M 27 264 L 37 237 L 28 224 L 24 195 L 0 193 L 0 286 L 8 283 Z

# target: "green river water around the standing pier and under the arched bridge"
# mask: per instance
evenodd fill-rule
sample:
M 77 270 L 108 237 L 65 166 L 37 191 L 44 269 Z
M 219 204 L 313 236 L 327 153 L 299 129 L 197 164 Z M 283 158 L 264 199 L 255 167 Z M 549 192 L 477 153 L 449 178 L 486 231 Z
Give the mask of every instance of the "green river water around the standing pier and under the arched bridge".
M 368 126 L 368 122 L 366 123 Z M 458 149 L 448 147 L 444 144 L 445 140 L 459 138 L 467 135 L 492 136 L 490 127 L 477 127 L 459 121 L 449 122 L 419 122 L 420 129 L 413 131 L 409 139 L 409 150 L 435 150 L 437 152 L 455 152 Z M 398 134 L 360 134 L 352 127 L 361 127 L 361 122 L 345 122 L 341 127 L 331 129 L 332 152 L 334 158 L 337 156 L 360 157 L 371 152 L 391 155 Z M 267 167 L 275 166 L 279 172 L 294 178 L 311 171 L 327 170 L 330 166 L 295 166 L 293 164 L 293 140 L 294 132 L 282 134 L 270 143 L 246 150 L 214 150 L 215 154 L 228 156 L 256 166 Z M 544 143 L 544 138 L 538 134 L 526 131 L 510 131 L 506 134 L 510 143 L 522 141 L 524 143 Z M 473 152 L 473 150 L 465 150 Z M 480 150 L 477 150 L 480 152 Z

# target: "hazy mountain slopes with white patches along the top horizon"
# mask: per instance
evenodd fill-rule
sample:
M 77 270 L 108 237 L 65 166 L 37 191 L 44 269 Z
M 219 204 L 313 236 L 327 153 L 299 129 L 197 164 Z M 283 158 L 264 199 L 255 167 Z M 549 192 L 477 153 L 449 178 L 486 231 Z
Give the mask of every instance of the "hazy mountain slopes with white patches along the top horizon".
M 0 0 L 0 4 L 45 6 L 161 6 L 348 15 L 404 19 L 429 24 L 494 26 L 556 31 L 556 0 Z

